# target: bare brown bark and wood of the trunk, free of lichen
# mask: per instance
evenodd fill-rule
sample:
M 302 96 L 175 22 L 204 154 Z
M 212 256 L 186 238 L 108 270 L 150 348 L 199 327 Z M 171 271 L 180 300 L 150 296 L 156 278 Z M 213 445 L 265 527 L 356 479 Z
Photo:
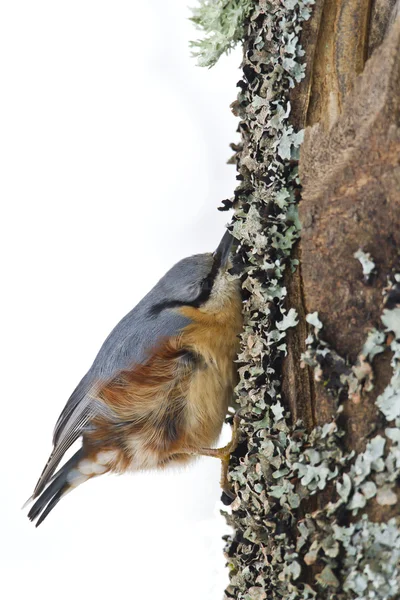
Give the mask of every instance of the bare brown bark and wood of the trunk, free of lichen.
M 323 338 L 354 364 L 370 328 L 379 326 L 382 289 L 399 268 L 400 19 L 393 0 L 317 2 L 302 34 L 306 77 L 292 94 L 293 120 L 306 127 L 300 154 L 300 268 L 288 278 L 300 316 L 318 311 Z M 369 58 L 368 58 L 369 56 Z M 376 273 L 365 281 L 354 258 L 369 252 Z M 289 332 L 283 390 L 308 428 L 329 421 L 332 398 L 300 369 L 300 326 Z M 364 449 L 376 428 L 375 399 L 390 377 L 389 358 L 374 361 L 375 388 L 345 403 L 346 445 Z

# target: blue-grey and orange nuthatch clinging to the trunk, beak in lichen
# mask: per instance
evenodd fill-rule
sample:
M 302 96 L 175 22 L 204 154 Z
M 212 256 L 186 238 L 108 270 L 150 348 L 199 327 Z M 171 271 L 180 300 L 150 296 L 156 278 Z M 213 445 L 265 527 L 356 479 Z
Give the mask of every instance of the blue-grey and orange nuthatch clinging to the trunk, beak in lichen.
M 53 451 L 31 500 L 39 525 L 69 491 L 103 473 L 187 462 L 227 464 L 236 447 L 217 441 L 236 382 L 242 328 L 238 280 L 228 274 L 233 238 L 178 262 L 113 329 L 55 426 Z M 81 448 L 58 464 L 78 439 Z

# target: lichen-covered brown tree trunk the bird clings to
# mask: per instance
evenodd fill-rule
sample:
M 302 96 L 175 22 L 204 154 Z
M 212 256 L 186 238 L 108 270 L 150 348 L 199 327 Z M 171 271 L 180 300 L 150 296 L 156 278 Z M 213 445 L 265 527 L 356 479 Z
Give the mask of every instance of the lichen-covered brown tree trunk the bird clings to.
M 398 13 L 257 0 L 247 16 L 226 598 L 400 597 Z

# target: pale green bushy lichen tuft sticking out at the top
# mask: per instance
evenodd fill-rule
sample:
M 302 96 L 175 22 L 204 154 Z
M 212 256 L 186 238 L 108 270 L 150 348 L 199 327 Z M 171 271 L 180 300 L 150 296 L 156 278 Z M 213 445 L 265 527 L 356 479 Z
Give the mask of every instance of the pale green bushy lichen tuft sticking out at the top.
M 254 0 L 200 0 L 199 4 L 192 9 L 191 20 L 203 37 L 190 45 L 199 66 L 212 67 L 243 38 L 244 23 Z

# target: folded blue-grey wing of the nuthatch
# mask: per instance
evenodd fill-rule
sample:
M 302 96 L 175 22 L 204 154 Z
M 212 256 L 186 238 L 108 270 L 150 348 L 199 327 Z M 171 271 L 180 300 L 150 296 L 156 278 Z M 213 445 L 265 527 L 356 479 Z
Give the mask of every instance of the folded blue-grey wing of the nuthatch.
M 67 449 L 82 435 L 90 420 L 101 413 L 96 400 L 100 385 L 123 370 L 146 361 L 151 349 L 165 338 L 178 335 L 190 320 L 173 308 L 156 314 L 143 301 L 128 313 L 107 337 L 93 365 L 72 393 L 59 416 L 53 436 L 54 449 L 36 485 L 38 496 L 52 477 Z

